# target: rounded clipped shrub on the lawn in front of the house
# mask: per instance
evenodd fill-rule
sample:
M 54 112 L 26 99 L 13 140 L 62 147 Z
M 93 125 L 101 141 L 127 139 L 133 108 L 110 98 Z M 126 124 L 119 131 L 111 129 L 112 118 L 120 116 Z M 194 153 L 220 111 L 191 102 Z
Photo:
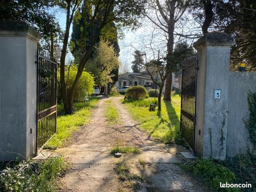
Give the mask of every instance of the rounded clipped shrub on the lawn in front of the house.
M 133 86 L 125 91 L 126 99 L 137 100 L 137 99 L 144 99 L 146 97 L 147 97 L 147 91 L 143 86 Z

